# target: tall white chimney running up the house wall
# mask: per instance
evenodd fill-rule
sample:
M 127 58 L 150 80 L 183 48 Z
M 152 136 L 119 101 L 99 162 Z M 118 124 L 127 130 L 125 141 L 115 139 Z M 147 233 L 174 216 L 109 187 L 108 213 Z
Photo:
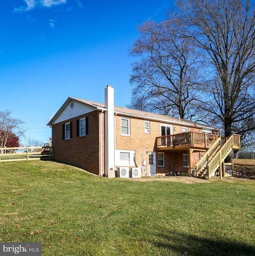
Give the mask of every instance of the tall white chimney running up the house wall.
M 114 138 L 114 88 L 107 85 L 104 89 L 104 104 L 107 111 L 104 114 L 104 174 L 115 177 L 115 138 Z

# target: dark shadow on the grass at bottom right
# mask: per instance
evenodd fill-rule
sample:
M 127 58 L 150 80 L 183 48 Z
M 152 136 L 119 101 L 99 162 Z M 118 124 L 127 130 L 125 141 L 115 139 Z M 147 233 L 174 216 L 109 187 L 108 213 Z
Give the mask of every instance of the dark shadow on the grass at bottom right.
M 255 246 L 235 241 L 202 238 L 173 230 L 157 235 L 155 246 L 188 256 L 255 256 Z

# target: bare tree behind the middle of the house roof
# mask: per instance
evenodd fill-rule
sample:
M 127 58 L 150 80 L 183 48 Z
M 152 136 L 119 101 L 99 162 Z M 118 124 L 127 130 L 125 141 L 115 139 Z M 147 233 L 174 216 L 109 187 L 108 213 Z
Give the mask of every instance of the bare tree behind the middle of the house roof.
M 132 65 L 130 107 L 192 119 L 196 99 L 198 62 L 186 38 L 180 37 L 177 19 L 147 21 L 138 27 L 139 38 L 129 49 L 139 57 Z

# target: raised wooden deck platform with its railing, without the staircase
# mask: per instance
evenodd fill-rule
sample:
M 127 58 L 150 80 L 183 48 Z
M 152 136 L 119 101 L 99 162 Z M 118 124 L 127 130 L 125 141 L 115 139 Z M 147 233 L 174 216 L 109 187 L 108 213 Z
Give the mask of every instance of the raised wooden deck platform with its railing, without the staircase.
M 178 133 L 173 135 L 166 135 L 156 137 L 157 149 L 162 151 L 182 151 L 187 149 L 194 149 L 194 151 L 206 151 L 209 149 L 219 135 L 208 133 Z

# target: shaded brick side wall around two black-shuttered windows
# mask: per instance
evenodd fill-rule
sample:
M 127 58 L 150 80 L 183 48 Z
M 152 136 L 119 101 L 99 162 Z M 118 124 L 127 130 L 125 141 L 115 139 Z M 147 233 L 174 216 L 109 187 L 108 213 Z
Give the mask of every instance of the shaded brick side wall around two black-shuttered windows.
M 76 120 L 84 117 L 88 117 L 88 134 L 83 137 L 77 137 Z M 70 121 L 73 122 L 73 137 L 69 140 L 63 140 L 62 125 Z M 75 165 L 90 171 L 91 173 L 99 175 L 99 133 L 98 111 L 93 111 L 85 115 L 80 115 L 67 121 L 52 125 L 54 160 Z M 102 137 L 102 139 L 104 139 L 104 137 Z M 104 149 L 104 147 L 102 147 L 102 149 Z

